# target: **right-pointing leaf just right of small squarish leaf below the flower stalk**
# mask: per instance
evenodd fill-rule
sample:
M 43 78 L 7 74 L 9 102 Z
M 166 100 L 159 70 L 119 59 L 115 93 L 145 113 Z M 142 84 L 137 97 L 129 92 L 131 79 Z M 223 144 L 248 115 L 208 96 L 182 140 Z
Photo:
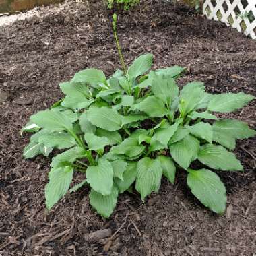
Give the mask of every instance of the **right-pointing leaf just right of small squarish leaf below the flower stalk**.
M 163 117 L 168 114 L 164 102 L 156 96 L 148 96 L 139 104 L 133 105 L 133 108 L 145 112 L 149 117 Z

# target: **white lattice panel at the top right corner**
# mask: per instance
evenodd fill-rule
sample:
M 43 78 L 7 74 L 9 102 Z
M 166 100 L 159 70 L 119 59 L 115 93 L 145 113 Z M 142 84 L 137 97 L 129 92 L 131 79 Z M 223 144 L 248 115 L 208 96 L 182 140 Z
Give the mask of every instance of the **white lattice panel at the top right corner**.
M 256 0 L 205 0 L 203 13 L 256 39 Z

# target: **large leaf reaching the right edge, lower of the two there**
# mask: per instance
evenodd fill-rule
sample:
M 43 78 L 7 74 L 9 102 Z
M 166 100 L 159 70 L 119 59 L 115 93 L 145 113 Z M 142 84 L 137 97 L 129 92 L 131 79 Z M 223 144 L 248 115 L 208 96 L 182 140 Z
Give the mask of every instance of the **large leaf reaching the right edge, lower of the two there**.
M 236 147 L 236 139 L 247 139 L 256 135 L 256 131 L 250 129 L 247 123 L 236 119 L 216 121 L 212 127 L 214 141 L 230 150 L 234 150 Z

